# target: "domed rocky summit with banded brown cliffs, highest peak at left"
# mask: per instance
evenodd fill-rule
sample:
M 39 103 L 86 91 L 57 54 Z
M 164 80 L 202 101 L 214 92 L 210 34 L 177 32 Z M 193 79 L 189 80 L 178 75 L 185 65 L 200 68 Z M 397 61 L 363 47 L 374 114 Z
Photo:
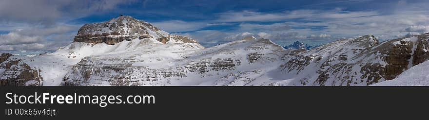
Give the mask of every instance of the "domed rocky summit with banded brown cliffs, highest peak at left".
M 185 43 L 198 43 L 189 37 L 168 34 L 150 23 L 131 16 L 120 16 L 101 23 L 85 24 L 79 29 L 74 42 L 114 45 L 124 40 L 150 37 L 162 43 L 167 43 L 170 39 L 181 40 Z

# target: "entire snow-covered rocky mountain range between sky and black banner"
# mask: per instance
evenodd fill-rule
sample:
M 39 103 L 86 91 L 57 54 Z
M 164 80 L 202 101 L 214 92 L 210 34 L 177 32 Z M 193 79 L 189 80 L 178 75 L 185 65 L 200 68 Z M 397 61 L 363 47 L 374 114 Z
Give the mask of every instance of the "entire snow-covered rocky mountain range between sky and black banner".
M 368 86 L 427 61 L 428 38 L 379 43 L 365 35 L 306 50 L 248 36 L 204 48 L 120 16 L 85 24 L 54 53 L 1 54 L 0 80 L 7 86 Z

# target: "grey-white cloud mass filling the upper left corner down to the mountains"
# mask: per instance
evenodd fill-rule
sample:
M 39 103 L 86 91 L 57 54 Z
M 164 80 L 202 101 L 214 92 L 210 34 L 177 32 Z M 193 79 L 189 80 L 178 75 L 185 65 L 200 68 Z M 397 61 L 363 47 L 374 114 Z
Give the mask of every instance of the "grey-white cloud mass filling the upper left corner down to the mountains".
M 0 51 L 56 50 L 81 26 L 63 22 L 136 0 L 0 0 Z

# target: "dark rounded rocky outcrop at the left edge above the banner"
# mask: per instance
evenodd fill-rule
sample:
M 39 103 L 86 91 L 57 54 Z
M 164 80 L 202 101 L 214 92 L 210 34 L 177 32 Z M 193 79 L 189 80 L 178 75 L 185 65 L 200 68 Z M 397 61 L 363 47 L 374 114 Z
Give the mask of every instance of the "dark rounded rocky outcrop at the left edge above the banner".
M 43 79 L 39 72 L 20 59 L 6 60 L 0 64 L 1 86 L 40 86 Z

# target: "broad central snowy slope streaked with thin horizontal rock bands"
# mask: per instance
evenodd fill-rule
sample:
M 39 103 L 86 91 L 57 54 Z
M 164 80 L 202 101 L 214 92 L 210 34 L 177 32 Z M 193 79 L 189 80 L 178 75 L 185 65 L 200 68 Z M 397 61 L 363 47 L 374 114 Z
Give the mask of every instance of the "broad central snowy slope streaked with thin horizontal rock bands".
M 281 74 L 267 72 L 279 71 L 280 56 L 287 53 L 270 40 L 254 37 L 196 52 L 177 47 L 147 45 L 126 54 L 85 57 L 65 76 L 64 85 L 262 85 L 267 81 L 281 80 L 278 79 Z M 166 54 L 170 51 L 176 54 Z

